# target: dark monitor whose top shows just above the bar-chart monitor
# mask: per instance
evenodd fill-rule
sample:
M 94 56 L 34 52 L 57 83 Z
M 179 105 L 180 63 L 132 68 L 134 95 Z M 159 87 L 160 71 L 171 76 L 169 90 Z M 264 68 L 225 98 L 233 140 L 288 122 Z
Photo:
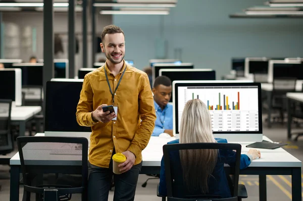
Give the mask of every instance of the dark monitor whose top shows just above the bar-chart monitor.
M 216 80 L 216 71 L 212 69 L 160 69 L 159 76 L 166 76 L 172 82 L 177 80 Z M 173 102 L 173 97 L 169 102 Z

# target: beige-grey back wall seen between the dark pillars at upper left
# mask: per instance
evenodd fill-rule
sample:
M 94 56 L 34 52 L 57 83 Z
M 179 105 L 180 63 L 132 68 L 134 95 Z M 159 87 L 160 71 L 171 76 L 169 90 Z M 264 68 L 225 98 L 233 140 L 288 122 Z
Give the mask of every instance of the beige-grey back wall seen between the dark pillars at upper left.
M 100 35 L 103 27 L 112 24 L 112 17 L 109 15 L 97 15 L 96 19 L 96 34 Z M 37 51 L 36 52 L 22 52 L 21 58 L 28 61 L 29 57 L 34 54 L 38 58 L 43 58 L 43 13 L 42 12 L 14 12 L 3 13 L 3 22 L 12 22 L 17 24 L 20 28 L 31 26 L 37 29 Z M 88 27 L 90 27 L 88 21 Z M 20 29 L 21 30 L 21 29 Z M 54 33 L 66 33 L 62 35 L 64 55 L 63 58 L 68 58 L 68 13 L 55 12 L 54 17 Z M 82 13 L 76 13 L 75 32 L 82 33 Z M 88 67 L 91 68 L 91 29 L 88 29 Z M 96 36 L 97 36 L 96 35 Z M 78 36 L 79 39 L 79 54 L 76 55 L 76 68 L 82 68 L 82 34 Z

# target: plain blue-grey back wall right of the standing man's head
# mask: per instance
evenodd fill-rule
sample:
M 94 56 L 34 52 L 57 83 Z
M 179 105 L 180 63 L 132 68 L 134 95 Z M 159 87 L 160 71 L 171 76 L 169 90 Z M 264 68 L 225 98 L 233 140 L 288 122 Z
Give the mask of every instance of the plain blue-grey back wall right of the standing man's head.
M 231 57 L 303 56 L 302 19 L 230 19 L 229 14 L 264 0 L 179 0 L 168 16 L 113 16 L 126 35 L 126 58 L 143 69 L 156 57 L 155 40 L 168 41 L 167 58 L 182 49 L 183 62 L 216 70 L 217 79 L 229 73 Z

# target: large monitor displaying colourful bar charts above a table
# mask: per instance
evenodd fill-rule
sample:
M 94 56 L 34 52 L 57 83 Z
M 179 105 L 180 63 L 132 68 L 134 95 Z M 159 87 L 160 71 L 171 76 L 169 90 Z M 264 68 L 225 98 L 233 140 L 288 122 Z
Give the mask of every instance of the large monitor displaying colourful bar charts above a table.
M 174 81 L 173 131 L 179 135 L 184 106 L 200 99 L 209 108 L 215 138 L 262 141 L 261 84 L 239 81 Z

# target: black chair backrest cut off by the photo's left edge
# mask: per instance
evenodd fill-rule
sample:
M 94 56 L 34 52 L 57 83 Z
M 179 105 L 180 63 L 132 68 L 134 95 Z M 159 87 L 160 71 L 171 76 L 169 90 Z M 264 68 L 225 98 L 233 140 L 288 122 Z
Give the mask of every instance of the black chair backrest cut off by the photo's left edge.
M 0 99 L 0 154 L 14 150 L 11 133 L 12 100 Z

